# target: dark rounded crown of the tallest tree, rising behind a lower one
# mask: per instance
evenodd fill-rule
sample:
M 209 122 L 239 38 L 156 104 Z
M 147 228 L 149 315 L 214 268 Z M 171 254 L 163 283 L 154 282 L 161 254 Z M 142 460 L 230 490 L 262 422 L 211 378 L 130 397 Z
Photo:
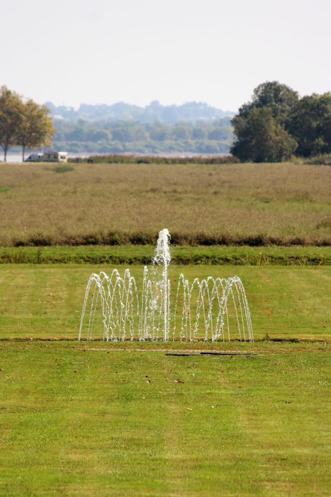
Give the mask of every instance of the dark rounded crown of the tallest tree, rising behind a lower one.
M 250 110 L 261 107 L 271 109 L 272 117 L 280 124 L 287 124 L 289 115 L 299 100 L 298 92 L 278 81 L 261 83 L 253 90 L 252 101 L 239 109 L 240 117 L 247 117 Z

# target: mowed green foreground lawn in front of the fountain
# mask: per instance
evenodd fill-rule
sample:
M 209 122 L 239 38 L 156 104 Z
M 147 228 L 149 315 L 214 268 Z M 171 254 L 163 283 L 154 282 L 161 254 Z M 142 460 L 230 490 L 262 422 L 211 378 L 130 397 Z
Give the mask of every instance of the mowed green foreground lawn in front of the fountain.
M 130 345 L 0 342 L 1 496 L 330 495 L 326 343 Z

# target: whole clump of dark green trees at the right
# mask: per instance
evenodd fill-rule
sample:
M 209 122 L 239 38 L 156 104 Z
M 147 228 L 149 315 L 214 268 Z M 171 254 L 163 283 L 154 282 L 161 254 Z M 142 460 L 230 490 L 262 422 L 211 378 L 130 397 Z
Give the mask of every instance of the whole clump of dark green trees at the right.
M 243 162 L 331 153 L 331 92 L 299 97 L 278 81 L 259 84 L 232 119 L 230 152 Z

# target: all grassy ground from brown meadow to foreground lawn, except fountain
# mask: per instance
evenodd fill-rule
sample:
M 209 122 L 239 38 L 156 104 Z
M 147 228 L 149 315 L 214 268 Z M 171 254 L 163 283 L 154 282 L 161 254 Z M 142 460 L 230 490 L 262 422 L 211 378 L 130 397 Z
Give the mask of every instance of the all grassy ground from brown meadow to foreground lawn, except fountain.
M 330 496 L 330 174 L 1 164 L 0 496 Z M 164 227 L 172 297 L 237 274 L 254 343 L 77 340 L 90 274 L 140 287 Z

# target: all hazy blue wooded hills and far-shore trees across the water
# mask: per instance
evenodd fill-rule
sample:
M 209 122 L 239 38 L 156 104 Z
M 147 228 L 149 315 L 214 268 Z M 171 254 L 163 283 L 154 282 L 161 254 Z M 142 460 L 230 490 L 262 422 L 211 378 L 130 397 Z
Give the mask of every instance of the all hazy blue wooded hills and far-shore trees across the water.
M 233 142 L 234 112 L 202 102 L 81 104 L 78 110 L 46 105 L 56 127 L 53 145 L 68 152 L 228 154 Z

